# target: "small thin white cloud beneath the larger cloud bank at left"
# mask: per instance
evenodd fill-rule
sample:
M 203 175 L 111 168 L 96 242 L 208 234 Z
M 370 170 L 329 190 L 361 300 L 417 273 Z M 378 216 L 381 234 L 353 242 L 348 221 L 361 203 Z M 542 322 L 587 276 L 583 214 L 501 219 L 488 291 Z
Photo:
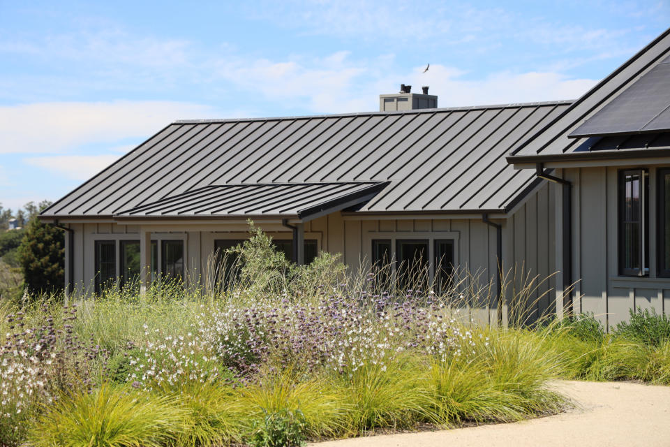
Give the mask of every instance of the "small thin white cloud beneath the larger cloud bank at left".
M 24 161 L 69 179 L 87 180 L 119 157 L 120 155 L 63 155 L 30 157 Z

